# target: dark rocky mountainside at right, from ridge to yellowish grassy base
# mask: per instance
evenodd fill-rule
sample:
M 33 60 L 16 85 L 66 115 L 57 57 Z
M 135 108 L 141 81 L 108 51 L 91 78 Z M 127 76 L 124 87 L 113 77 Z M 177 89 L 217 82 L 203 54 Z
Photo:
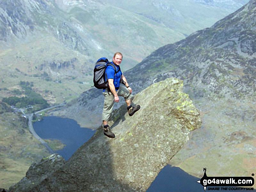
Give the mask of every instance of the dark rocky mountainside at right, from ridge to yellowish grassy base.
M 255 172 L 255 24 L 256 0 L 251 0 L 212 27 L 159 48 L 124 73 L 135 93 L 168 77 L 183 79 L 199 108 L 203 126 L 171 165 L 198 177 L 202 167 L 218 176 Z M 91 89 L 56 114 L 96 126 L 102 104 L 101 91 Z

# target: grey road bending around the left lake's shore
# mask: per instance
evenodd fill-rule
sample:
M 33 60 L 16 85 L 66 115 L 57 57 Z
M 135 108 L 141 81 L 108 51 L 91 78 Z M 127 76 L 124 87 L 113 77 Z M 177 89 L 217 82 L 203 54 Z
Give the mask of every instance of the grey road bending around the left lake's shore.
M 65 103 L 62 103 L 62 104 L 59 104 L 59 105 L 57 105 L 57 106 L 53 106 L 53 107 L 50 107 L 50 108 L 46 108 L 46 109 L 37 111 L 37 112 L 35 112 L 35 113 L 26 115 L 27 118 L 28 118 L 28 127 L 29 127 L 29 131 L 31 132 L 32 135 L 34 135 L 34 137 L 35 137 L 36 139 L 38 139 L 38 141 L 40 141 L 40 142 L 48 149 L 48 151 L 49 151 L 51 154 L 54 154 L 53 150 L 52 150 L 52 149 L 50 148 L 50 146 L 49 146 L 41 137 L 39 137 L 39 135 L 34 131 L 33 123 L 32 123 L 33 115 L 34 115 L 34 114 L 41 113 L 42 111 L 45 111 L 45 110 L 48 110 L 48 109 L 57 108 L 57 107 L 61 107 L 61 106 L 64 106 L 64 105 L 65 105 Z

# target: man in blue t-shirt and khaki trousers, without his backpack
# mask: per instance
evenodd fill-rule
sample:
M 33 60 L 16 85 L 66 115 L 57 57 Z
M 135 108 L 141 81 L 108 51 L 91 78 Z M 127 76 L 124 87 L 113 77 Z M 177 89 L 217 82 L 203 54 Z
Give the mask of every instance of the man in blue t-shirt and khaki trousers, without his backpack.
M 108 65 L 105 71 L 106 81 L 109 83 L 109 90 L 103 90 L 104 95 L 104 106 L 102 113 L 103 121 L 103 132 L 109 138 L 115 138 L 115 134 L 111 131 L 108 125 L 108 120 L 115 102 L 119 102 L 119 96 L 122 96 L 127 104 L 128 114 L 132 116 L 136 111 L 140 109 L 140 105 L 132 106 L 132 88 L 130 88 L 126 78 L 124 77 L 120 64 L 123 60 L 123 55 L 119 52 L 114 54 L 112 65 Z M 115 68 L 114 68 L 115 67 Z M 125 83 L 121 84 L 120 81 L 123 79 Z

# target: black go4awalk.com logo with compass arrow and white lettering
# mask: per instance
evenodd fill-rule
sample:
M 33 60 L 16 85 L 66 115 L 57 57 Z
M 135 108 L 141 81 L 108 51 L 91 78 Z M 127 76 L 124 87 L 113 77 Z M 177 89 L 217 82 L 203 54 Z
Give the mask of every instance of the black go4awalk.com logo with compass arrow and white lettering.
M 206 168 L 204 168 L 204 176 L 198 181 L 203 185 L 206 190 L 209 187 L 210 190 L 254 190 L 251 187 L 254 185 L 253 177 L 208 177 L 206 175 Z M 254 174 L 252 174 L 254 176 Z

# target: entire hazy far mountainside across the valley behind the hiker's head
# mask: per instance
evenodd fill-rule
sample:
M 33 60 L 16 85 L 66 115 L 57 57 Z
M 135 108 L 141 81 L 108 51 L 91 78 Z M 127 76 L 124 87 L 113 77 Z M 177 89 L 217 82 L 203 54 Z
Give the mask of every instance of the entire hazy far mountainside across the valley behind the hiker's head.
M 158 47 L 212 25 L 232 9 L 190 0 L 1 1 L 1 88 L 7 90 L 0 98 L 10 96 L 8 89 L 20 81 L 31 81 L 50 103 L 70 101 L 92 85 L 96 58 L 121 51 L 123 71 L 128 70 Z

